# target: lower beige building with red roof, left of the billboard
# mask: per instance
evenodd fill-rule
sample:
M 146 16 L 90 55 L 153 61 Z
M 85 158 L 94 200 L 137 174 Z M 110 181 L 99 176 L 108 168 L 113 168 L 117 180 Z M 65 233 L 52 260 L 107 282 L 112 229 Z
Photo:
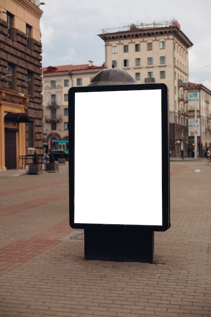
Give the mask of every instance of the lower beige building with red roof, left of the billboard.
M 43 68 L 43 141 L 46 148 L 59 140 L 68 140 L 68 91 L 71 87 L 87 86 L 103 66 L 49 66 Z

